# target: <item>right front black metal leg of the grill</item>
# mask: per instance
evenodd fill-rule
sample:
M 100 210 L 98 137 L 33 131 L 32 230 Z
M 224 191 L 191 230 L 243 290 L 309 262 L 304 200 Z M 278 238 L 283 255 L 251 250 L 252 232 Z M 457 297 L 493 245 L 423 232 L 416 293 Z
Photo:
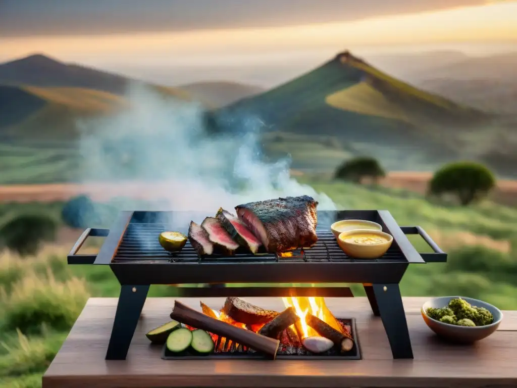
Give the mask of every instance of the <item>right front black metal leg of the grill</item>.
M 398 284 L 372 285 L 394 359 L 412 359 L 413 350 Z M 370 303 L 372 303 L 370 301 Z M 373 306 L 372 306 L 373 309 Z M 375 312 L 375 310 L 374 310 Z

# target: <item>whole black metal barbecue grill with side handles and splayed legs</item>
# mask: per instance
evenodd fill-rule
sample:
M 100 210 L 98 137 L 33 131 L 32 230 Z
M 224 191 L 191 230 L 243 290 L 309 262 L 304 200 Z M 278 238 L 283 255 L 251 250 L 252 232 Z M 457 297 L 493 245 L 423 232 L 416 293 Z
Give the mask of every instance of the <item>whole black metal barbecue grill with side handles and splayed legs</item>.
M 191 212 L 120 212 L 113 227 L 88 228 L 72 247 L 69 264 L 109 265 L 121 285 L 120 297 L 108 345 L 107 360 L 124 360 L 150 285 L 205 283 L 208 288 L 181 288 L 183 296 L 354 296 L 348 287 L 224 287 L 232 283 L 361 283 L 373 314 L 384 324 L 393 357 L 413 358 L 399 282 L 409 264 L 446 262 L 444 253 L 420 227 L 400 227 L 388 211 L 318 212 L 318 242 L 298 249 L 292 256 L 237 253 L 232 257 L 198 256 L 190 243 L 178 253 L 166 252 L 158 243 L 162 231 L 187 234 L 190 219 L 201 221 L 207 214 Z M 379 223 L 393 236 L 386 254 L 375 260 L 357 260 L 345 255 L 330 232 L 330 224 L 342 219 Z M 419 234 L 433 253 L 419 253 L 406 235 Z M 103 236 L 97 255 L 78 255 L 89 236 Z M 223 287 L 220 287 L 223 285 Z M 218 287 L 219 286 L 219 287 Z M 339 317 L 338 317 L 339 318 Z M 353 321 L 353 320 L 352 320 Z M 352 322 L 351 321 L 351 322 Z M 355 329 L 353 327 L 353 333 Z M 357 342 L 356 342 L 357 343 Z M 230 349 L 232 357 L 253 357 Z M 299 353 L 299 352 L 298 352 Z M 281 354 L 280 357 L 300 354 Z M 256 356 L 256 355 L 255 355 Z M 308 356 L 303 354 L 303 356 Z M 328 354 L 328 356 L 332 356 Z M 166 355 L 164 355 L 166 357 Z M 353 357 L 359 357 L 359 349 Z M 346 358 L 344 356 L 343 358 Z

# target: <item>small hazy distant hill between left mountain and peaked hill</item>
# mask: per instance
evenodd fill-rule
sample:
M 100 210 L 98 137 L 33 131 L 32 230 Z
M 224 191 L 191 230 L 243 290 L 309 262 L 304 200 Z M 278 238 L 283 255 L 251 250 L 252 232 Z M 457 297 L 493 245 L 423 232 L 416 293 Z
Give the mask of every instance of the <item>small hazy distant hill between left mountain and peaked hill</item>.
M 196 82 L 177 87 L 212 108 L 223 107 L 242 98 L 265 92 L 260 86 L 227 81 Z

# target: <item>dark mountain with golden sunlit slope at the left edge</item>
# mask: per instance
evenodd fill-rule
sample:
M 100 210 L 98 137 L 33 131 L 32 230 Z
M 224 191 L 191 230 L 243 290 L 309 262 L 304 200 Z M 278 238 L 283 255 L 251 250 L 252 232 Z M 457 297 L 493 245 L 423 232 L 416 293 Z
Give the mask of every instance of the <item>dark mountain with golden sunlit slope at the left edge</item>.
M 70 139 L 78 118 L 110 114 L 128 106 L 131 84 L 144 84 L 44 55 L 0 64 L 0 139 Z M 156 93 L 189 100 L 177 88 L 146 84 Z

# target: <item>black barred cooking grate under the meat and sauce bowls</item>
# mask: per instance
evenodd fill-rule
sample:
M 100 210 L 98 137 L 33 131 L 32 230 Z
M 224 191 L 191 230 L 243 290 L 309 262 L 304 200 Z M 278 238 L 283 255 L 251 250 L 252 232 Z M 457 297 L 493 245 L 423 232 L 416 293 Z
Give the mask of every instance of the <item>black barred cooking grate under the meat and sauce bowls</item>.
M 211 255 L 200 257 L 187 242 L 180 252 L 171 253 L 163 249 L 158 242 L 161 232 L 170 230 L 166 225 L 158 223 L 129 223 L 123 238 L 113 257 L 113 263 L 256 263 L 256 262 L 364 262 L 351 258 L 339 247 L 336 237 L 326 229 L 316 229 L 318 242 L 312 248 L 299 249 L 290 257 L 279 257 L 273 253 L 253 255 L 252 253 L 236 253 L 234 256 Z M 386 254 L 369 262 L 403 262 L 407 260 L 396 242 L 393 242 Z

